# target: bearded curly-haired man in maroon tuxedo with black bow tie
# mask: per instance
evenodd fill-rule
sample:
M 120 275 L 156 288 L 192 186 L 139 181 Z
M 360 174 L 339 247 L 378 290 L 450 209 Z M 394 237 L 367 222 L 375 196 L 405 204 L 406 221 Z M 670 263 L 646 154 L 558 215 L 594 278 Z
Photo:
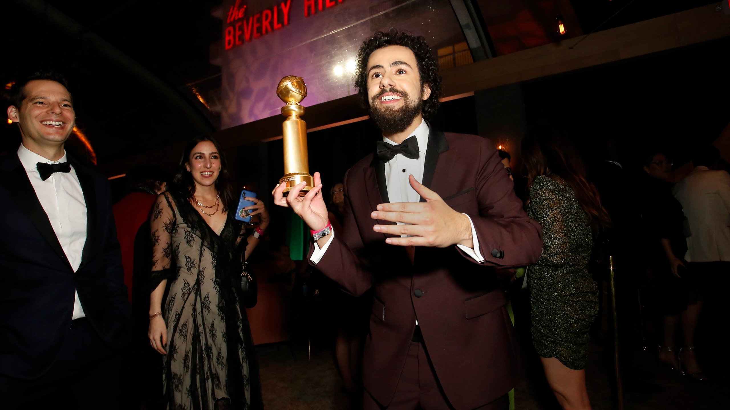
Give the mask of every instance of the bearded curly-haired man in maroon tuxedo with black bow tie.
M 329 225 L 318 173 L 307 195 L 303 183 L 286 197 L 277 185 L 274 201 L 310 226 L 320 271 L 353 295 L 374 287 L 364 409 L 507 409 L 518 360 L 494 268 L 534 263 L 540 227 L 491 142 L 424 120 L 441 79 L 423 37 L 378 32 L 358 63 L 383 141 L 347 171 L 342 231 Z

